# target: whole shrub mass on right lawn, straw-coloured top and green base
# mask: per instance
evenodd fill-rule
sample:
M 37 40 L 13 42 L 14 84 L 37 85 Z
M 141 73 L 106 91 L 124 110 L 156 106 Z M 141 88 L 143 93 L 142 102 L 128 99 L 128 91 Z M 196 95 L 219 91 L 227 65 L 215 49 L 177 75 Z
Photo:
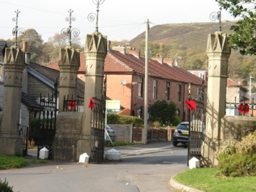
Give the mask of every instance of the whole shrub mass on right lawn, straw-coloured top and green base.
M 256 131 L 240 142 L 225 141 L 217 153 L 220 171 L 231 177 L 256 175 Z

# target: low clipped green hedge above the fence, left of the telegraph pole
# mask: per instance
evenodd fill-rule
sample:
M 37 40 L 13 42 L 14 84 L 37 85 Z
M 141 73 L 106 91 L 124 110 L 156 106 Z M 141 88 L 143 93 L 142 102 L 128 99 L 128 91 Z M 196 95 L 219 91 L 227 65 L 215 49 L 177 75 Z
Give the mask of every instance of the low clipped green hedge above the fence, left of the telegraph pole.
M 144 121 L 143 119 L 137 117 L 137 116 L 128 116 L 128 115 L 116 115 L 109 113 L 108 124 L 133 124 L 135 127 L 143 127 Z

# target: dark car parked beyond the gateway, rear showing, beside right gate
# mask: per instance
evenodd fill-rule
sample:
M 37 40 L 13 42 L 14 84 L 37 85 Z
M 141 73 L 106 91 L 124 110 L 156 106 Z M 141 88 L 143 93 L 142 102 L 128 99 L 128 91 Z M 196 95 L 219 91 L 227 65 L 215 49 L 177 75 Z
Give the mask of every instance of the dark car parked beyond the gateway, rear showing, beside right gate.
M 178 143 L 187 145 L 189 141 L 189 122 L 182 122 L 174 131 L 172 136 L 173 146 L 177 146 Z

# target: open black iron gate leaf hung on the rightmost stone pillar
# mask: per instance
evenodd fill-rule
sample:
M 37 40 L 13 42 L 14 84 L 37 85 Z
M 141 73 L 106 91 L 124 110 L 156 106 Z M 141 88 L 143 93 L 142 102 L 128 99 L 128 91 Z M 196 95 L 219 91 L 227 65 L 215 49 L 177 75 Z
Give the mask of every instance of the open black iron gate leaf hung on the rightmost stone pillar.
M 198 160 L 201 158 L 201 146 L 205 138 L 205 102 L 204 102 L 204 80 L 198 88 L 197 98 L 192 98 L 191 87 L 189 84 L 189 100 L 195 101 L 196 109 L 192 111 L 192 121 L 190 121 L 189 111 L 189 143 L 188 143 L 188 162 L 192 157 Z

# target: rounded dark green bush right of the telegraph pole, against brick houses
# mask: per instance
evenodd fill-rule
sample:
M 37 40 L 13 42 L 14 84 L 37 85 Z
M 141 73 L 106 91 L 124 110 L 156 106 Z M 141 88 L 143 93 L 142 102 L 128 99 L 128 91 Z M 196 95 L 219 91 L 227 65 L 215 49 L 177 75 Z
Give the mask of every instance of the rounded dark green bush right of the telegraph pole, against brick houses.
M 148 113 L 150 114 L 148 121 L 158 121 L 161 125 L 170 125 L 175 121 L 176 111 L 176 104 L 174 102 L 167 103 L 166 100 L 157 101 L 148 108 Z

